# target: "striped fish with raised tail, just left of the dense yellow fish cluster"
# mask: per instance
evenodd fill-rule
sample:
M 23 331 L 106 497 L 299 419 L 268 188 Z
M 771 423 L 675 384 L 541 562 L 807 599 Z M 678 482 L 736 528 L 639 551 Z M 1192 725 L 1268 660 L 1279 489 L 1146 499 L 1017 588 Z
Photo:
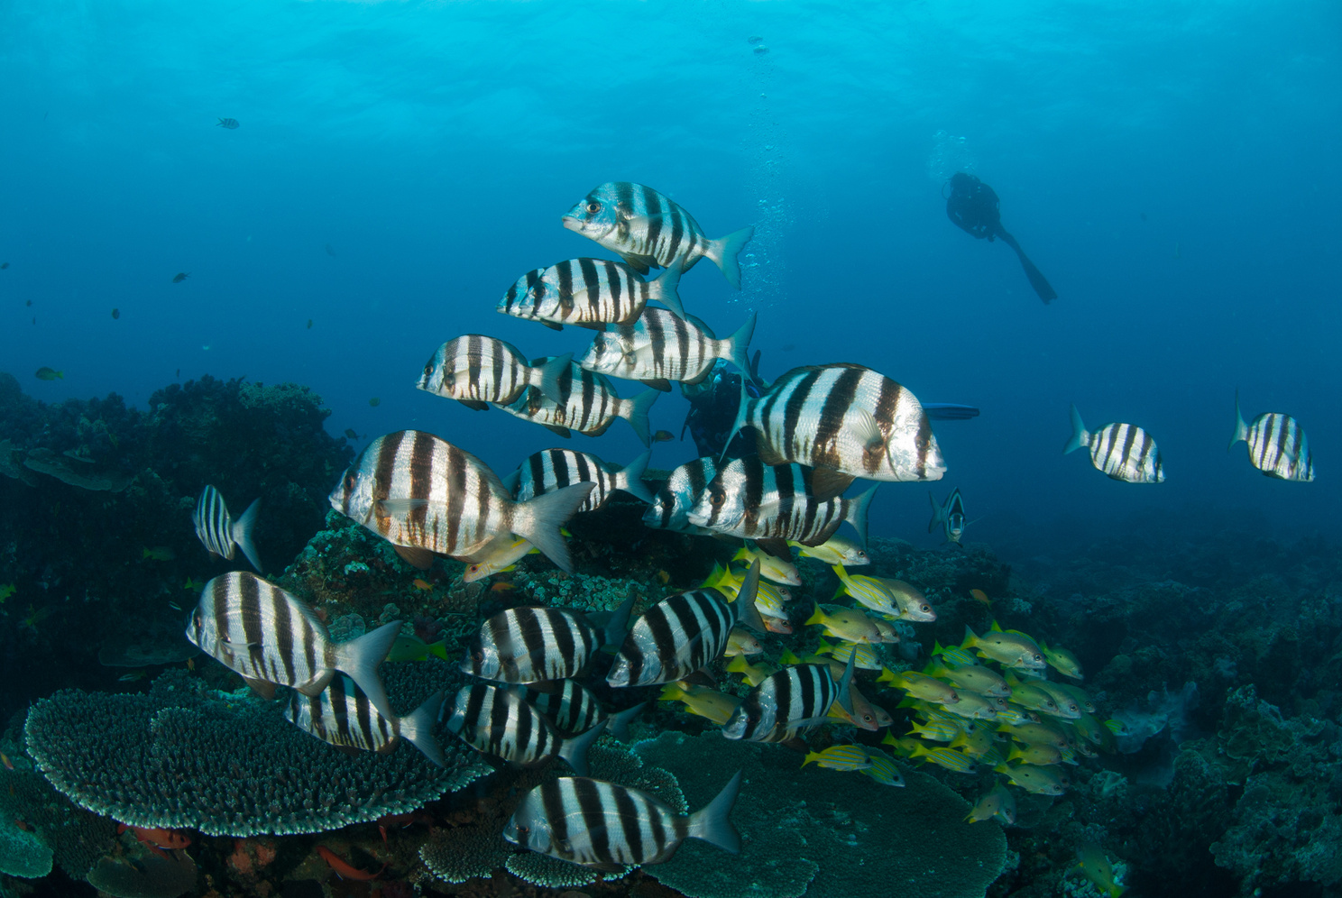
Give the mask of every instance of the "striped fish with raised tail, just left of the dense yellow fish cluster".
M 780 670 L 750 690 L 722 728 L 729 740 L 785 742 L 797 730 L 824 724 L 836 701 L 852 714 L 852 659 L 840 682 L 829 664 L 800 664 Z

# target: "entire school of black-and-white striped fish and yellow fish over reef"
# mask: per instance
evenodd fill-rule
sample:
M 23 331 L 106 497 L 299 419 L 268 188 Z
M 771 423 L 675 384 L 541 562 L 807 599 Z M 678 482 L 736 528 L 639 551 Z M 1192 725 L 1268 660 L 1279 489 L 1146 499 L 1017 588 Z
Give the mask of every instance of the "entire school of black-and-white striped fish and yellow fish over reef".
M 286 718 L 344 750 L 391 752 L 404 738 L 442 765 L 432 730 L 443 725 L 505 762 L 558 758 L 574 776 L 523 795 L 503 836 L 599 870 L 666 860 L 684 839 L 738 851 L 729 813 L 741 775 L 725 777 L 718 797 L 690 815 L 586 777 L 592 742 L 607 732 L 623 738 L 647 705 L 609 709 L 584 685 L 588 677 L 619 690 L 659 687 L 660 701 L 713 721 L 729 740 L 800 748 L 803 766 L 867 776 L 886 787 L 905 783 L 895 758 L 954 773 L 988 766 L 998 780 L 970 811 L 970 821 L 1013 823 L 1012 789 L 1062 795 L 1071 781 L 1068 765 L 1113 750 L 1117 725 L 1100 719 L 1067 650 L 994 623 L 981 635 L 966 628 L 958 646 L 937 644 L 917 668 L 914 627 L 937 619 L 931 603 L 909 583 L 848 570 L 871 561 L 867 510 L 879 485 L 941 479 L 946 462 L 927 411 L 899 383 L 849 362 L 804 365 L 764 383 L 746 354 L 754 314 L 718 338 L 686 311 L 682 277 L 701 259 L 741 287 L 737 256 L 753 228 L 709 238 L 668 197 L 623 181 L 590 191 L 562 224 L 621 260 L 576 258 L 534 268 L 513 282 L 498 311 L 556 330 L 593 330 L 581 360 L 529 357 L 503 340 L 464 334 L 429 356 L 416 387 L 471 409 L 502 408 L 565 438 L 572 431 L 599 436 L 621 417 L 650 446 L 648 409 L 658 396 L 672 383 L 692 389 L 722 360 L 757 387 L 754 395 L 742 391 L 733 428 L 753 430 L 754 454 L 694 459 L 652 489 L 643 479 L 651 451 L 620 467 L 590 452 L 549 448 L 499 477 L 454 443 L 404 430 L 364 448 L 331 490 L 330 505 L 416 568 L 428 569 L 439 557 L 463 561 L 466 581 L 509 570 L 535 552 L 572 572 L 565 522 L 600 509 L 617 491 L 647 503 L 648 528 L 742 540 L 731 562 L 699 588 L 637 616 L 632 591 L 613 612 L 502 611 L 464 647 L 459 667 L 474 682 L 396 715 L 378 666 L 389 655 L 446 656 L 447 647 L 401 636 L 400 621 L 333 642 L 309 605 L 259 576 L 251 536 L 259 501 L 235 519 L 220 491 L 207 486 L 193 514 L 201 544 L 229 561 L 240 553 L 258 573 L 238 570 L 204 585 L 187 628 L 192 643 L 262 697 L 289 687 Z M 652 268 L 664 271 L 648 279 Z M 611 377 L 648 389 L 624 399 Z M 1143 428 L 1110 423 L 1087 430 L 1075 407 L 1071 416 L 1064 452 L 1088 450 L 1094 467 L 1117 481 L 1165 479 L 1159 450 Z M 1314 479 L 1307 439 L 1291 416 L 1263 413 L 1245 421 L 1236 396 L 1231 446 L 1241 440 L 1263 474 Z M 855 479 L 872 483 L 848 495 Z M 929 532 L 941 529 L 947 544 L 960 545 L 969 523 L 960 490 L 942 502 L 931 497 L 931 507 Z M 844 525 L 848 533 L 840 532 Z M 815 652 L 768 656 L 764 638 L 793 632 L 788 587 L 801 584 L 793 550 L 831 565 L 839 589 L 832 601 L 815 604 L 803 624 L 808 634 L 820 628 Z M 601 659 L 611 652 L 603 672 Z M 726 675 L 742 678 L 743 697 L 702 682 L 705 671 L 725 660 Z M 858 670 L 879 671 L 876 686 L 910 709 L 910 732 L 888 732 L 879 746 L 813 749 L 804 737 L 813 742 L 825 725 L 866 732 L 894 726 L 894 717 L 859 690 Z

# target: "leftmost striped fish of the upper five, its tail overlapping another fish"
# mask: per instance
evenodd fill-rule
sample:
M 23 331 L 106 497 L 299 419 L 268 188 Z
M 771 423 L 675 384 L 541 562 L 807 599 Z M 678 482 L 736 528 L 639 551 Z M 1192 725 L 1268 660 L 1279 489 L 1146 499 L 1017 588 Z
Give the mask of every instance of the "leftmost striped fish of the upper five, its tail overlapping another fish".
M 455 399 L 478 412 L 487 409 L 490 403 L 506 405 L 514 401 L 527 387 L 535 387 L 557 401 L 557 379 L 570 360 L 572 356 L 557 356 L 531 366 L 510 342 L 466 334 L 439 346 L 424 364 L 415 385 L 444 399 Z

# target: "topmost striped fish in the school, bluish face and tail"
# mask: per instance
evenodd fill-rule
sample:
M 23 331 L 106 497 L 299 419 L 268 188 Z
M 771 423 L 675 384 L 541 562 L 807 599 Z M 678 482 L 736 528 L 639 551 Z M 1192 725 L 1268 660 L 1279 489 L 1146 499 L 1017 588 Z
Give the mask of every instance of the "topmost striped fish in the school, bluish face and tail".
M 737 290 L 741 289 L 737 256 L 754 236 L 754 228 L 745 227 L 713 240 L 683 208 L 651 187 L 629 181 L 593 188 L 564 216 L 564 227 L 619 254 L 639 274 L 672 262 L 688 271 L 707 256 Z

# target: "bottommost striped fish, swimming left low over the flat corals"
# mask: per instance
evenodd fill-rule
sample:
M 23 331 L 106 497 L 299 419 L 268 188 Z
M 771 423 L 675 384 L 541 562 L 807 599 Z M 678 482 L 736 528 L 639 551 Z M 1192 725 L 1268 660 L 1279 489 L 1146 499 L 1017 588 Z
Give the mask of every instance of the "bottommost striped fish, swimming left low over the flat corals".
M 538 854 L 605 870 L 670 860 L 686 839 L 703 839 L 737 854 L 741 836 L 727 816 L 739 791 L 738 772 L 707 807 L 683 816 L 636 789 L 560 777 L 522 796 L 503 838 Z

